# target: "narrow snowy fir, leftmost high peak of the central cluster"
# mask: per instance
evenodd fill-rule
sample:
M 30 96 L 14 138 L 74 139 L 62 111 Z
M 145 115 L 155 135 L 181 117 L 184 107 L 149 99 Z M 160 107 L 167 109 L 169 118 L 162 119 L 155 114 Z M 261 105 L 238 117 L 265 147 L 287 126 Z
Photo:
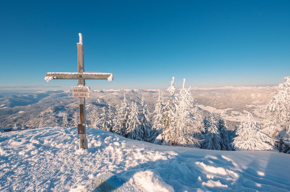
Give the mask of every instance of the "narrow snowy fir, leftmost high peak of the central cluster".
M 129 116 L 129 105 L 124 93 L 124 99 L 121 106 L 116 107 L 116 116 L 114 119 L 115 125 L 113 126 L 112 132 L 118 135 L 124 136 L 126 129 L 128 128 L 128 116 Z

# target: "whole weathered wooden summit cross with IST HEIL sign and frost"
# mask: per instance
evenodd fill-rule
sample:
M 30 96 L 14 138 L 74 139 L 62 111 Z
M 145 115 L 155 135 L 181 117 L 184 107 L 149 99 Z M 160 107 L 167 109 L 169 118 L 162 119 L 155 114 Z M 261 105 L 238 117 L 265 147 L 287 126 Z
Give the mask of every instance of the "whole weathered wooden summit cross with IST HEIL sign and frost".
M 77 126 L 78 134 L 80 135 L 79 149 L 87 149 L 88 141 L 86 139 L 86 97 L 90 90 L 85 85 L 85 79 L 108 79 L 113 80 L 112 73 L 86 73 L 84 72 L 83 62 L 83 36 L 79 33 L 80 42 L 77 43 L 77 73 L 69 72 L 49 72 L 44 78 L 47 82 L 52 79 L 77 79 L 78 87 L 72 87 L 73 97 L 79 99 L 80 122 Z M 75 94 L 74 91 L 77 93 Z

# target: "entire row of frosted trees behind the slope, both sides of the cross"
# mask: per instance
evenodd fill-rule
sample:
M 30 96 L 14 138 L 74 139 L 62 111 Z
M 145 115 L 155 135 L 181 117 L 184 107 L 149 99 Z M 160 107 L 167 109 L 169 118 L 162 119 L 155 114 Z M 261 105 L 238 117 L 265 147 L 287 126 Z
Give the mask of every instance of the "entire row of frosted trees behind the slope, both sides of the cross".
M 153 113 L 149 113 L 144 97 L 140 104 L 124 99 L 116 107 L 103 107 L 100 116 L 93 113 L 91 124 L 98 129 L 117 133 L 129 139 L 141 140 L 165 146 L 183 146 L 212 150 L 272 150 L 277 149 L 275 139 L 290 140 L 290 77 L 284 78 L 277 92 L 265 106 L 260 107 L 259 115 L 264 118 L 257 122 L 249 111 L 247 119 L 236 127 L 236 136 L 229 143 L 225 113 L 202 116 L 194 104 L 190 87 L 175 88 L 174 77 L 168 87 L 168 97 L 160 93 Z M 150 118 L 150 117 L 152 118 Z M 152 120 L 151 120 L 152 119 Z M 78 113 L 71 121 L 78 124 Z M 40 122 L 42 127 L 58 126 L 52 111 L 47 112 Z M 61 126 L 69 126 L 67 117 L 62 118 Z M 290 149 L 283 146 L 283 152 Z

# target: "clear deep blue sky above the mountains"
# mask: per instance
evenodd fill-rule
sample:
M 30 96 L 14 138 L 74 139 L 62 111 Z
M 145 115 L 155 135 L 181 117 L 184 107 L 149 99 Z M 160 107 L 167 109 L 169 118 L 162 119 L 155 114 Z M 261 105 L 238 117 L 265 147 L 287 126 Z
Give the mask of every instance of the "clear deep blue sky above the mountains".
M 290 1 L 2 1 L 0 85 L 61 86 L 78 33 L 93 89 L 268 85 L 290 75 Z M 39 89 L 39 88 L 37 88 Z M 44 88 L 49 89 L 49 88 Z

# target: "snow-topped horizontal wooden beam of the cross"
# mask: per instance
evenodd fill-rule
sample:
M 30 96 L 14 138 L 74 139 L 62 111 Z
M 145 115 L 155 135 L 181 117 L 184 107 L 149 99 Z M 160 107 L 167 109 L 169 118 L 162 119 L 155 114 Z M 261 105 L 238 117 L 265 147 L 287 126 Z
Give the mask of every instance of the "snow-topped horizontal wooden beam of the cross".
M 68 72 L 49 72 L 46 73 L 47 77 L 54 79 L 108 79 L 113 80 L 112 73 L 68 73 Z

